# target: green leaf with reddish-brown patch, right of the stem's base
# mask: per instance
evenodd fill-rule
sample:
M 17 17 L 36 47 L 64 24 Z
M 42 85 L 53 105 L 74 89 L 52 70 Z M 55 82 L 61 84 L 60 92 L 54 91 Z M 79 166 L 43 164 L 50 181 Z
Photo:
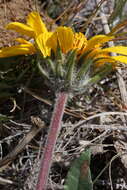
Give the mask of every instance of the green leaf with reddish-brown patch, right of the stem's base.
M 86 150 L 74 161 L 65 182 L 64 190 L 92 190 L 93 183 L 90 172 L 90 150 Z

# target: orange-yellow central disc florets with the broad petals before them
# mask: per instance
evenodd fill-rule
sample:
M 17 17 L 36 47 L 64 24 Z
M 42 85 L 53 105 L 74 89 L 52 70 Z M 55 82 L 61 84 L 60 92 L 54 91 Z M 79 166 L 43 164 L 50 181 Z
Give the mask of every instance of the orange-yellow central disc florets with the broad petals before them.
M 49 46 L 56 52 L 59 46 L 64 54 L 70 50 L 76 50 L 77 54 L 82 54 L 87 45 L 87 39 L 81 32 L 75 33 L 70 27 L 58 27 L 47 41 Z

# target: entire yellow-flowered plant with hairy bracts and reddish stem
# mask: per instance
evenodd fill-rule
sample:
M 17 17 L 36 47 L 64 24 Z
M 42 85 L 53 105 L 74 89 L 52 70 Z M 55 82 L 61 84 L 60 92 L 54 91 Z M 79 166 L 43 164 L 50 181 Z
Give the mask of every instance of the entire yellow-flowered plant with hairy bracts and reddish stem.
M 87 39 L 83 33 L 66 26 L 48 31 L 38 12 L 31 12 L 26 24 L 12 22 L 7 25 L 7 29 L 33 40 L 16 39 L 19 45 L 0 49 L 0 58 L 36 54 L 40 73 L 48 80 L 57 97 L 36 187 L 36 190 L 45 190 L 69 93 L 82 93 L 109 74 L 120 62 L 127 64 L 127 47 L 106 47 L 107 42 L 116 40 L 113 32 Z M 112 52 L 116 56 L 111 56 Z

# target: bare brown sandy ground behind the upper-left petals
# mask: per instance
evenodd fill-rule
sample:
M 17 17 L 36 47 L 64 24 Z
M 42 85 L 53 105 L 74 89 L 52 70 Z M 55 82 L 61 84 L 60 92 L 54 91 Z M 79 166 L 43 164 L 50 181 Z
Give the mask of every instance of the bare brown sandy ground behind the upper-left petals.
M 7 31 L 6 24 L 15 21 L 25 22 L 27 14 L 34 9 L 32 0 L 0 0 L 0 47 L 12 44 L 18 35 L 13 31 Z

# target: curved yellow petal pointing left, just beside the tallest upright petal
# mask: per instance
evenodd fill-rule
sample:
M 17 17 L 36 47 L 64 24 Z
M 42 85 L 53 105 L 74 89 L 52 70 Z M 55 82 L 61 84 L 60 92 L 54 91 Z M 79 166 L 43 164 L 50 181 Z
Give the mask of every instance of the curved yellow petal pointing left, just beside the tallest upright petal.
M 11 22 L 7 25 L 6 28 L 10 30 L 15 30 L 20 34 L 27 35 L 31 38 L 35 36 L 35 32 L 31 27 L 27 26 L 26 24 L 22 24 L 20 22 Z

